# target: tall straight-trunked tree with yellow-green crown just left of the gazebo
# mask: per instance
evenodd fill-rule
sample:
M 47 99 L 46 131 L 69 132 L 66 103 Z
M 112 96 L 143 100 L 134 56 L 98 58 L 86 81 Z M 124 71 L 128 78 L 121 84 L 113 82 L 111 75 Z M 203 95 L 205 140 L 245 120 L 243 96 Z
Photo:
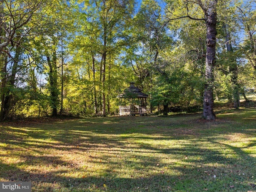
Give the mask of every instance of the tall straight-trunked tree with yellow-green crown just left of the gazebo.
M 99 13 L 99 24 L 102 27 L 102 115 L 106 115 L 106 62 L 107 54 L 111 54 L 117 47 L 112 43 L 118 40 L 118 34 L 125 30 L 126 21 L 133 11 L 132 0 L 103 0 L 102 3 L 96 1 Z M 120 38 L 120 36 L 119 36 Z M 116 43 L 117 44 L 117 43 Z M 120 46 L 120 45 L 119 45 Z

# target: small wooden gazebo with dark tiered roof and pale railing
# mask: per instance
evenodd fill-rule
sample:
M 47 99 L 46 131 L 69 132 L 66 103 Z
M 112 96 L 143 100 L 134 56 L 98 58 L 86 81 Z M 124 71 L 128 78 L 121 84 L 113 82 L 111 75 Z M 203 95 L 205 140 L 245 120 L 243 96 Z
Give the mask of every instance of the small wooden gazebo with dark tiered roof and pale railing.
M 134 82 L 126 88 L 119 98 L 119 115 L 146 115 L 147 114 L 147 94 L 142 93 Z

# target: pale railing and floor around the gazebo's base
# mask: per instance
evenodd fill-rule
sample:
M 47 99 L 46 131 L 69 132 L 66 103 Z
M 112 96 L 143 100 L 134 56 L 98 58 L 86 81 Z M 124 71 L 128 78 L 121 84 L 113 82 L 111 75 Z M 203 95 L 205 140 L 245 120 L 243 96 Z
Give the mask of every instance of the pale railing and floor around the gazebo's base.
M 144 115 L 147 114 L 147 106 L 119 106 L 119 115 Z

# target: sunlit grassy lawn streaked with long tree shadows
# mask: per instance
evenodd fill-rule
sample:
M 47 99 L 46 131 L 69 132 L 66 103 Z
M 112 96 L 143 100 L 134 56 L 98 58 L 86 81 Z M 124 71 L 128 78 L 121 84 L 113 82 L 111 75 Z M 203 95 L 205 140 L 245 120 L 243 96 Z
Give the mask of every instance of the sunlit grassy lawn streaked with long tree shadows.
M 0 181 L 34 192 L 256 191 L 256 109 L 0 124 Z

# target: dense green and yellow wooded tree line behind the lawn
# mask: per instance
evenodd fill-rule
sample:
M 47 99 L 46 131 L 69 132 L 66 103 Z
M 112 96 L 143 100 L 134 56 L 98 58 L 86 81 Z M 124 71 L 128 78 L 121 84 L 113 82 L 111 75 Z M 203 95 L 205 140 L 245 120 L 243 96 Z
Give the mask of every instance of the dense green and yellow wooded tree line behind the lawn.
M 0 120 L 117 114 L 129 82 L 151 111 L 239 108 L 256 76 L 255 0 L 0 0 Z

